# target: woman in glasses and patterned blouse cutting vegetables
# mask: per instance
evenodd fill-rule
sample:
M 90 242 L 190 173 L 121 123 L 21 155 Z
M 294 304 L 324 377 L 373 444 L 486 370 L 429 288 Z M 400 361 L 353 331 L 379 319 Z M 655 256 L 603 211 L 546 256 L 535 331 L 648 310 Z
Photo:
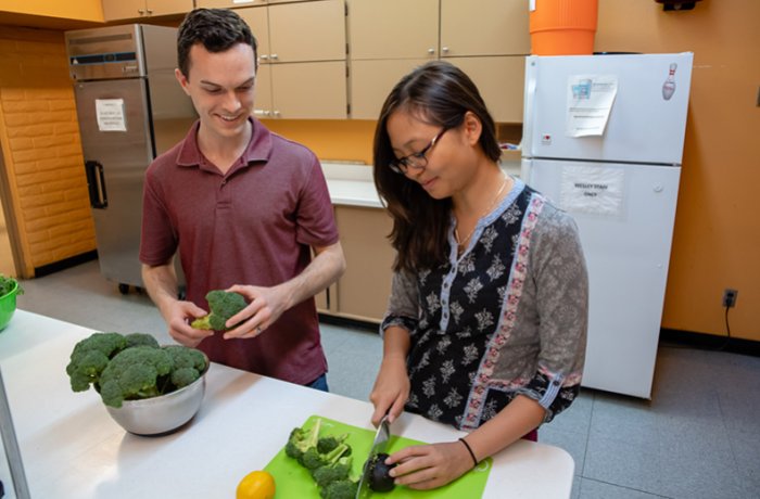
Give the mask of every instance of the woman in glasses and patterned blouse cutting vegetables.
M 461 71 L 430 62 L 382 107 L 375 183 L 397 255 L 372 422 L 406 409 L 470 432 L 407 447 L 396 484 L 444 485 L 579 393 L 587 277 L 574 221 L 499 168 L 493 118 Z

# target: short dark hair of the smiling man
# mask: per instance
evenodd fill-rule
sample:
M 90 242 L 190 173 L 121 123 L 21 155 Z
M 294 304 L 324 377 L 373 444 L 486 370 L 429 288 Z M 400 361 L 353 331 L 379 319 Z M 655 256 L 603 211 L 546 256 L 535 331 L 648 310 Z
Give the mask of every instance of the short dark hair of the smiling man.
M 195 43 L 203 43 L 208 52 L 224 52 L 237 43 L 249 44 L 258 67 L 256 37 L 235 11 L 195 9 L 185 16 L 177 33 L 177 65 L 186 78 L 190 72 L 190 49 Z

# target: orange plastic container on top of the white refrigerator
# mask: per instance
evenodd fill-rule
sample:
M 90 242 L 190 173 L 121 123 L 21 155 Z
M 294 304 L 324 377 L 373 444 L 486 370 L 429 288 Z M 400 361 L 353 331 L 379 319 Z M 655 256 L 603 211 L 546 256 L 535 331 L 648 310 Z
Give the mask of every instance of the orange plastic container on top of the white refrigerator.
M 531 54 L 591 55 L 598 0 L 530 0 Z

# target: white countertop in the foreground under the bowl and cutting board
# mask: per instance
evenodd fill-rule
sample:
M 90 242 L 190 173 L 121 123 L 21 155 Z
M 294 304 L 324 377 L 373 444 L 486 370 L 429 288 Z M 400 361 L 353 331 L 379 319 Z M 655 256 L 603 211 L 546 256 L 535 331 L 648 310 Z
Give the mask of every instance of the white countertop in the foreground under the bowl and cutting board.
M 264 469 L 312 414 L 371 428 L 369 402 L 212 364 L 189 425 L 162 437 L 128 434 L 94 391 L 69 387 L 68 356 L 91 333 L 23 310 L 0 332 L 2 375 L 35 499 L 231 498 L 238 482 Z M 463 435 L 407 413 L 393 433 L 422 442 Z M 521 440 L 493 464 L 485 498 L 570 497 L 574 464 L 562 449 Z M 4 459 L 0 479 L 14 498 Z

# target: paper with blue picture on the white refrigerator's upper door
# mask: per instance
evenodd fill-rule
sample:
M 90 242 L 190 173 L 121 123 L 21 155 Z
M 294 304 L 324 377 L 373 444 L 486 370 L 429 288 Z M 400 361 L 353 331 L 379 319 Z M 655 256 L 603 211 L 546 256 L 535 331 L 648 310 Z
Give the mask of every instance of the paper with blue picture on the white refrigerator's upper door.
M 565 133 L 568 137 L 604 135 L 617 94 L 615 75 L 570 76 Z

